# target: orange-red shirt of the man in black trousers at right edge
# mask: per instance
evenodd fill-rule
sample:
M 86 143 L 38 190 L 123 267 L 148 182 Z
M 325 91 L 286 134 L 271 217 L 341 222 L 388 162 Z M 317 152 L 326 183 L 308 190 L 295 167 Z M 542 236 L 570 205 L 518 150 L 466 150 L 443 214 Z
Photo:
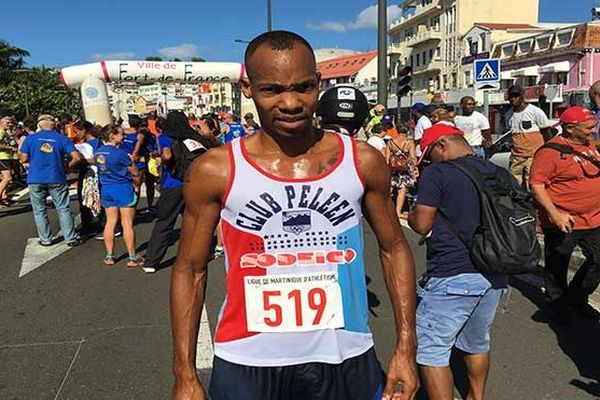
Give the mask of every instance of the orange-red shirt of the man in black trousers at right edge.
M 571 146 L 600 161 L 600 153 L 592 144 L 575 144 L 562 136 L 552 138 L 549 143 Z M 600 170 L 591 162 L 574 154 L 540 149 L 533 158 L 529 183 L 546 187 L 556 208 L 573 217 L 573 229 L 600 226 Z M 553 226 L 543 209 L 540 220 L 542 226 Z

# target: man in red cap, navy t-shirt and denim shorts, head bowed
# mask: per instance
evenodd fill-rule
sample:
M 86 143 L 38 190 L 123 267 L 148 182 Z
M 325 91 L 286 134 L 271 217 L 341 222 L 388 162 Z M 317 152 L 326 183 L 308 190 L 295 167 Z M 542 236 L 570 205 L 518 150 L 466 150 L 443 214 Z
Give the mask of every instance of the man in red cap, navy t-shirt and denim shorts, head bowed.
M 429 398 L 452 399 L 449 362 L 452 348 L 458 348 L 468 371 L 466 398 L 483 399 L 490 328 L 507 279 L 480 273 L 467 245 L 454 233 L 464 238 L 475 234 L 480 225 L 479 193 L 469 177 L 447 161 L 468 164 L 482 173 L 496 174 L 500 167 L 476 157 L 463 132 L 447 124 L 425 129 L 420 146 L 422 160 L 431 165 L 419 178 L 417 205 L 408 224 L 421 235 L 431 232 L 431 237 L 427 271 L 417 285 L 417 363 Z

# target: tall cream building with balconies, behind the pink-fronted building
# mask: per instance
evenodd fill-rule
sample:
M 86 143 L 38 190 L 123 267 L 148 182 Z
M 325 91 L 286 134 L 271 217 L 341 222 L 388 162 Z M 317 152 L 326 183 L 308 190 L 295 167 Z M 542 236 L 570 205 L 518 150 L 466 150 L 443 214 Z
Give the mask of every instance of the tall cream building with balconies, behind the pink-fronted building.
M 474 24 L 535 25 L 539 0 L 405 0 L 400 7 L 402 18 L 389 28 L 391 86 L 401 68 L 412 66 L 411 86 L 419 94 L 462 86 L 462 37 Z

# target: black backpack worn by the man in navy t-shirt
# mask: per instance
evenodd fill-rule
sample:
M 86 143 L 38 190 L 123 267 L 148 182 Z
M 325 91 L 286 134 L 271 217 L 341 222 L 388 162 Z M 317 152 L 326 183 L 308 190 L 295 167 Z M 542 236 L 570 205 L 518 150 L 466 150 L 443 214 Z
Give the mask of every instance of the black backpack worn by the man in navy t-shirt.
M 471 262 L 482 273 L 524 274 L 534 272 L 541 257 L 537 240 L 535 206 L 531 193 L 516 186 L 504 168 L 483 173 L 463 160 L 449 164 L 458 168 L 479 193 L 481 221 L 470 240 L 445 215 L 442 219 L 469 249 Z

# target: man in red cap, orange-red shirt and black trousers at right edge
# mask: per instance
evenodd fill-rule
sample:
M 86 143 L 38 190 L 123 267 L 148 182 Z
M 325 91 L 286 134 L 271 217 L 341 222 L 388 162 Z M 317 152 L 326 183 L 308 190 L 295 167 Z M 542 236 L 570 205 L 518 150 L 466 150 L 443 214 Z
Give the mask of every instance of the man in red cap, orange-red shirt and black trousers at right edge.
M 551 309 L 589 313 L 600 283 L 600 153 L 592 144 L 596 116 L 571 107 L 560 116 L 562 135 L 535 154 L 529 183 L 544 230 L 546 294 Z M 579 246 L 586 261 L 567 285 L 569 260 Z

